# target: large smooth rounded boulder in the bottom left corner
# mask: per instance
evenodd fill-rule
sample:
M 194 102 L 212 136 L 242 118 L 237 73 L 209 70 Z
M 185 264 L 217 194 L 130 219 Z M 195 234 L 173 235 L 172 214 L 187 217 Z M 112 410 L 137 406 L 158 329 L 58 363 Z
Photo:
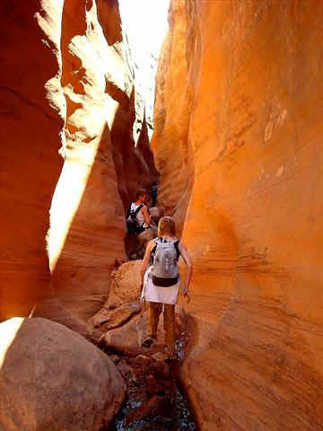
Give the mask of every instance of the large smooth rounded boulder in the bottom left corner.
M 108 425 L 124 399 L 97 347 L 41 318 L 0 324 L 1 431 L 85 431 Z

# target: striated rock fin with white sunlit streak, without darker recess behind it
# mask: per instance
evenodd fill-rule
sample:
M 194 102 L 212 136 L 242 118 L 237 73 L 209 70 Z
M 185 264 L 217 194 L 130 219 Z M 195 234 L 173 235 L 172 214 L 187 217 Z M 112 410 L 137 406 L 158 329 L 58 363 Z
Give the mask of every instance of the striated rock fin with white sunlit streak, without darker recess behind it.
M 113 38 L 109 36 L 109 47 L 95 2 L 65 2 L 65 164 L 51 207 L 48 243 L 55 293 L 80 319 L 100 308 L 108 294 L 109 270 L 115 259 L 125 256 L 124 211 L 110 134 L 119 104 L 106 93 L 109 67 L 112 71 L 116 67 L 113 78 L 125 88 L 120 49 L 112 45 L 122 40 L 120 28 L 117 30 Z M 127 100 L 127 94 L 124 97 Z

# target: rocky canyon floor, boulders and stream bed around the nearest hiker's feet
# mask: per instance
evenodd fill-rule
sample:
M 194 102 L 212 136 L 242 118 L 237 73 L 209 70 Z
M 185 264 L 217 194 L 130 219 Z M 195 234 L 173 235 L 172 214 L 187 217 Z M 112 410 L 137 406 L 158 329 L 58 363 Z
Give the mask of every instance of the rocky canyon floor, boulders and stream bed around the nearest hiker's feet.
M 147 312 L 145 304 L 137 301 L 140 266 L 140 260 L 130 261 L 112 274 L 108 302 L 88 321 L 98 347 L 115 363 L 127 384 L 126 402 L 114 429 L 195 430 L 188 402 L 178 385 L 188 339 L 186 314 L 183 308 L 177 308 L 176 362 L 167 361 L 162 317 L 156 343 L 150 348 L 141 346 Z

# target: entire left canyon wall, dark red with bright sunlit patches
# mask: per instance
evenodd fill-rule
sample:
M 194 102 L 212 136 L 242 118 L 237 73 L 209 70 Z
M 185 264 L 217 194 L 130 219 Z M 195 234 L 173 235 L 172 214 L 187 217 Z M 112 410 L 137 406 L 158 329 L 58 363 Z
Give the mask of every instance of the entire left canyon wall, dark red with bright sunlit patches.
M 145 122 L 135 148 L 135 67 L 118 1 L 4 1 L 0 12 L 0 320 L 51 293 L 38 312 L 83 333 L 79 320 L 97 312 L 110 268 L 126 259 L 125 208 L 157 175 Z

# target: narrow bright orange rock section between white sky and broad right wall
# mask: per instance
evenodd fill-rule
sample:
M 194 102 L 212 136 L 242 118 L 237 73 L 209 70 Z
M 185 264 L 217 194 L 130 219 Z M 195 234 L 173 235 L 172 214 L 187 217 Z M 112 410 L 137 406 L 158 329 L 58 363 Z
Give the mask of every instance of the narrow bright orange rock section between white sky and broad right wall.
M 194 180 L 188 136 L 192 106 L 190 56 L 194 28 L 185 0 L 170 4 L 170 32 L 162 45 L 156 79 L 152 148 L 161 174 L 159 202 L 181 231 Z M 185 41 L 185 43 L 184 43 Z

